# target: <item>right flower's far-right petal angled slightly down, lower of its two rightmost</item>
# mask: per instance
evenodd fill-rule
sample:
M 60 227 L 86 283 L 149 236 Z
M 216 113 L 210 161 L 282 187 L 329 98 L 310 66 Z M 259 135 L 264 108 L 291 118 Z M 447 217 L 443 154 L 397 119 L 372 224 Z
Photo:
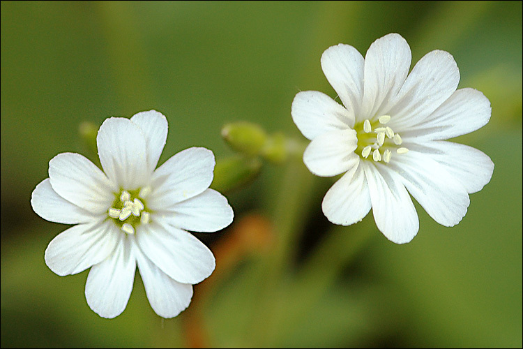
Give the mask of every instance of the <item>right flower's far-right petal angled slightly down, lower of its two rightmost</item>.
M 418 149 L 443 165 L 469 194 L 480 191 L 490 181 L 494 172 L 494 163 L 490 157 L 468 145 L 435 141 L 425 142 L 423 146 L 412 144 L 409 145 L 409 149 Z

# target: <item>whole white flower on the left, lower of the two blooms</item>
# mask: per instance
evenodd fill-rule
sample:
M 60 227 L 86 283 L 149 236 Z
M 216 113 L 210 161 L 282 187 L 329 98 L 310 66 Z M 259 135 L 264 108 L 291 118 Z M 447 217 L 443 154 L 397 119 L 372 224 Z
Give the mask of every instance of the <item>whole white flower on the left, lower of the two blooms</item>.
M 214 232 L 232 222 L 227 199 L 209 188 L 212 151 L 185 149 L 155 170 L 166 138 L 160 112 L 111 117 L 96 138 L 105 173 L 80 154 L 63 153 L 33 191 L 38 215 L 75 224 L 50 242 L 45 263 L 60 276 L 91 267 L 87 304 L 104 318 L 126 309 L 136 265 L 154 311 L 178 315 L 192 284 L 215 267 L 209 248 L 185 230 Z

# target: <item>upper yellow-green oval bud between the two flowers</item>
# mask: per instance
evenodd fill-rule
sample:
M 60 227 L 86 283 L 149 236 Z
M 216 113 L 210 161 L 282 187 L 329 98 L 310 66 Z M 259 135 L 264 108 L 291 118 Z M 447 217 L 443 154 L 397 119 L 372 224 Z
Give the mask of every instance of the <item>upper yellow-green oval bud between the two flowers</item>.
M 264 129 L 247 121 L 238 121 L 223 126 L 222 137 L 232 149 L 248 156 L 260 154 L 267 141 Z

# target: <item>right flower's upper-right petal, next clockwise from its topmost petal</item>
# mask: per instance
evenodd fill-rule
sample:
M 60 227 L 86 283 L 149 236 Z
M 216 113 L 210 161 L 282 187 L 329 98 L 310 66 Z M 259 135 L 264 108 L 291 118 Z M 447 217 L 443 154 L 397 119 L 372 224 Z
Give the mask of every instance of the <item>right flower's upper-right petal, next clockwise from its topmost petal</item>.
M 450 97 L 460 82 L 460 70 L 448 52 L 435 50 L 425 54 L 412 69 L 400 93 L 391 99 L 389 124 L 404 130 L 426 119 Z

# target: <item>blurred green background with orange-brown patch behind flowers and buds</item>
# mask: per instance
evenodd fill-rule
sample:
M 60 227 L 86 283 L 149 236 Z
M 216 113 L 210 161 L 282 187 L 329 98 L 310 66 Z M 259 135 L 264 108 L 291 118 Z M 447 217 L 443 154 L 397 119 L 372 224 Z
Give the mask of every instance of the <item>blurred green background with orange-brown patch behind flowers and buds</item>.
M 460 88 L 492 103 L 489 124 L 456 140 L 495 164 L 459 225 L 416 205 L 420 231 L 402 246 L 372 214 L 333 226 L 321 213 L 333 179 L 265 163 L 225 193 L 231 227 L 197 235 L 217 270 L 174 319 L 152 311 L 139 276 L 126 311 L 99 318 L 87 272 L 47 268 L 45 248 L 67 226 L 37 216 L 31 191 L 53 156 L 86 154 L 82 121 L 162 112 L 160 163 L 192 146 L 231 156 L 220 138 L 230 121 L 305 141 L 292 99 L 335 96 L 321 53 L 347 43 L 365 55 L 390 32 L 407 39 L 413 64 L 430 50 L 453 54 Z M 2 347 L 522 346 L 521 1 L 1 1 L 0 131 Z

